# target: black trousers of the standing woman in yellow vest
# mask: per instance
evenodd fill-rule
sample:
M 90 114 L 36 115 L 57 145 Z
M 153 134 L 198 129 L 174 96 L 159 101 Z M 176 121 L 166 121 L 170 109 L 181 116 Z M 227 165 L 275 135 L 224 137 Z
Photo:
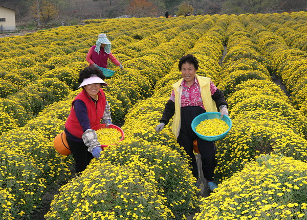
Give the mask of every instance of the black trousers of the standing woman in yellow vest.
M 211 141 L 200 139 L 192 130 L 191 123 L 194 117 L 206 112 L 203 108 L 197 106 L 188 106 L 181 108 L 181 127 L 177 138 L 178 143 L 183 146 L 185 152 L 191 158 L 193 176 L 199 178 L 198 165 L 193 152 L 193 140 L 197 140 L 198 148 L 202 158 L 202 169 L 207 181 L 213 180 L 215 168 L 215 144 Z

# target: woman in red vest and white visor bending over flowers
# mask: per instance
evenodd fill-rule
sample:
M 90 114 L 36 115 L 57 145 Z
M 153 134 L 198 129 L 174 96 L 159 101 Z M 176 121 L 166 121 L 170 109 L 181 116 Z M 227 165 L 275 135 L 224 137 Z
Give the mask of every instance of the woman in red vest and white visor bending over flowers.
M 99 125 L 101 120 L 112 124 L 110 106 L 101 89 L 101 86 L 107 86 L 104 79 L 102 71 L 96 67 L 85 67 L 79 74 L 82 91 L 72 102 L 64 130 L 76 162 L 76 173 L 82 172 L 94 157 L 100 156 L 101 144 L 92 127 Z

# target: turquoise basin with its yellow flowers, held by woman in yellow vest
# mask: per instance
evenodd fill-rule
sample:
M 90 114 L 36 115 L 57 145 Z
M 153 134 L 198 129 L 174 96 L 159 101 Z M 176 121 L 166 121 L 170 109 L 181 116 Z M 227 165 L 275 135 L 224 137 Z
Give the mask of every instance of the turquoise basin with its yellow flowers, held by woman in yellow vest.
M 227 115 L 221 118 L 220 112 L 206 112 L 196 116 L 191 126 L 199 138 L 216 141 L 226 137 L 232 127 L 232 121 Z

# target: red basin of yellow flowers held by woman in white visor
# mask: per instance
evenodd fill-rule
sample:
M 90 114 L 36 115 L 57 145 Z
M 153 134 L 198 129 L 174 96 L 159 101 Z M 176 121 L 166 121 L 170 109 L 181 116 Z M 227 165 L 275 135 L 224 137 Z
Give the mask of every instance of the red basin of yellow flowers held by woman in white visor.
M 101 148 L 105 148 L 108 145 L 117 144 L 124 139 L 123 130 L 116 125 L 100 124 L 92 128 L 96 131 L 98 141 L 101 144 Z

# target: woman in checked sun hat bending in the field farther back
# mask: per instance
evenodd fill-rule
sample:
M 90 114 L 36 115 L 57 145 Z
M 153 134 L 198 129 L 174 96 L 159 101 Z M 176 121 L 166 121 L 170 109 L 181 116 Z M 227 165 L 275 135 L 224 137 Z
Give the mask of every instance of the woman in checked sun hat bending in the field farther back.
M 96 45 L 92 46 L 86 55 L 86 61 L 90 66 L 107 68 L 107 59 L 123 69 L 122 64 L 111 53 L 111 42 L 105 34 L 99 34 Z

